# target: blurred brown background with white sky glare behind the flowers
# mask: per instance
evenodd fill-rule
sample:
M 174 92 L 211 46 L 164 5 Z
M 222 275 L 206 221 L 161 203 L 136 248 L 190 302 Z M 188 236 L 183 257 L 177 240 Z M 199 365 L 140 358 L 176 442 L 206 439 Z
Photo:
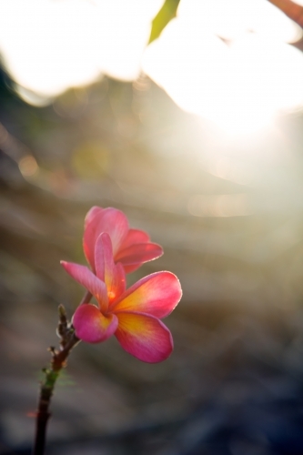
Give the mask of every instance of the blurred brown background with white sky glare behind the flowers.
M 2 455 L 30 453 L 94 205 L 163 246 L 127 283 L 180 279 L 175 350 L 81 343 L 47 454 L 303 453 L 301 32 L 266 0 L 1 1 Z

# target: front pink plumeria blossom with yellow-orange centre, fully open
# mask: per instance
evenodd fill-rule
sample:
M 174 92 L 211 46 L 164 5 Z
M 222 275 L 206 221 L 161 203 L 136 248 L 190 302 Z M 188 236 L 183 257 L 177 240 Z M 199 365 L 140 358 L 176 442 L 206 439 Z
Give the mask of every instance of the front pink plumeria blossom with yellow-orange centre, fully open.
M 149 363 L 167 359 L 173 339 L 160 319 L 171 313 L 182 295 L 173 273 L 153 273 L 126 290 L 125 271 L 121 263 L 115 264 L 107 233 L 96 238 L 96 275 L 85 266 L 61 263 L 98 305 L 85 303 L 76 309 L 72 322 L 78 339 L 99 343 L 115 334 L 122 348 L 137 359 Z

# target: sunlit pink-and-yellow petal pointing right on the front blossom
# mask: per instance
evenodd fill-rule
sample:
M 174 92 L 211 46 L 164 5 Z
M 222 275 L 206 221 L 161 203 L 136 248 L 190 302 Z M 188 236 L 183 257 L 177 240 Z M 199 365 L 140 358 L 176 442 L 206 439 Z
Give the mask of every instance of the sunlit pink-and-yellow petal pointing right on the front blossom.
M 120 311 L 139 311 L 156 318 L 165 318 L 177 306 L 182 296 L 180 282 L 171 272 L 157 272 L 131 286 L 111 308 Z

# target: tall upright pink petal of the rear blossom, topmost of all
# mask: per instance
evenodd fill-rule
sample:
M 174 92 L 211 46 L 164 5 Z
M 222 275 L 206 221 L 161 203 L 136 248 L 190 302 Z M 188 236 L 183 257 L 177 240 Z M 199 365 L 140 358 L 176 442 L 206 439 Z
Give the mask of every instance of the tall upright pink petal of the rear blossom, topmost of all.
M 93 207 L 87 213 L 83 248 L 86 259 L 93 270 L 95 270 L 96 239 L 102 232 L 109 234 L 115 255 L 128 232 L 128 222 L 125 214 L 112 207 Z

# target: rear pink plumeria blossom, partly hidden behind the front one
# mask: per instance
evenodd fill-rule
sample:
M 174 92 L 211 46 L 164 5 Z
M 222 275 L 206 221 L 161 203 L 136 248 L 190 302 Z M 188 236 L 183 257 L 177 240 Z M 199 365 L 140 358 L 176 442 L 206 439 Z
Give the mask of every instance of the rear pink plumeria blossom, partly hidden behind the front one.
M 163 254 L 163 249 L 157 243 L 151 243 L 145 231 L 129 228 L 127 218 L 120 210 L 92 207 L 86 215 L 83 248 L 94 272 L 96 239 L 102 232 L 107 232 L 111 238 L 114 260 L 121 262 L 126 273 Z

